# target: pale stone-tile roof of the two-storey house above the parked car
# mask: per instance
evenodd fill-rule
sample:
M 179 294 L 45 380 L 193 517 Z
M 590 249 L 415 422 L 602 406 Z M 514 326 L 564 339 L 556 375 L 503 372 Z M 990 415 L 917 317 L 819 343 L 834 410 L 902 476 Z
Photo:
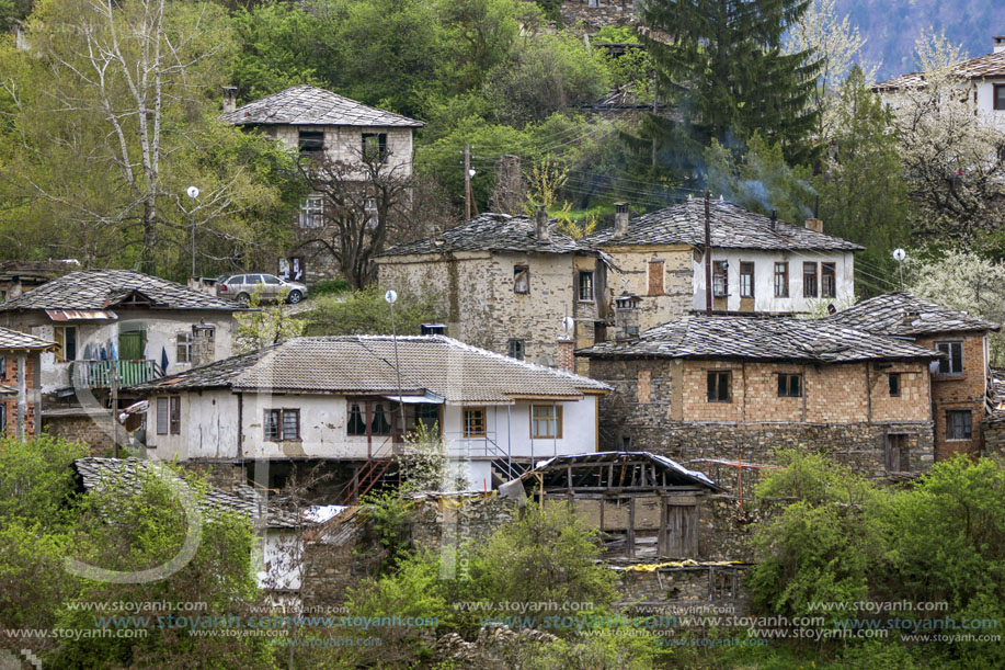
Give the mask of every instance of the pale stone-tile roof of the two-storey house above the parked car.
M 418 128 L 421 121 L 378 110 L 319 89 L 300 84 L 250 102 L 221 120 L 235 124 L 309 125 L 309 126 L 382 126 Z

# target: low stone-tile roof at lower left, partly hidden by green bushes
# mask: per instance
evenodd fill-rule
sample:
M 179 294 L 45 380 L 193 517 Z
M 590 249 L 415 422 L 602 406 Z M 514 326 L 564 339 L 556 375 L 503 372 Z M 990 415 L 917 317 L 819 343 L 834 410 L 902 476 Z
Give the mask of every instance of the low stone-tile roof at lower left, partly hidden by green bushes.
M 73 462 L 73 468 L 87 492 L 103 490 L 109 482 L 118 481 L 119 478 L 123 487 L 136 490 L 139 486 L 140 474 L 153 474 L 151 462 L 139 458 L 78 458 Z M 181 478 L 173 473 L 170 479 L 174 482 L 181 481 Z M 244 514 L 252 521 L 259 509 L 253 497 L 237 496 L 215 487 L 209 487 L 198 507 L 204 514 L 231 510 Z M 265 511 L 265 525 L 270 529 L 297 529 L 312 524 L 307 519 L 298 522 L 296 514 L 282 510 L 275 504 L 269 506 Z

